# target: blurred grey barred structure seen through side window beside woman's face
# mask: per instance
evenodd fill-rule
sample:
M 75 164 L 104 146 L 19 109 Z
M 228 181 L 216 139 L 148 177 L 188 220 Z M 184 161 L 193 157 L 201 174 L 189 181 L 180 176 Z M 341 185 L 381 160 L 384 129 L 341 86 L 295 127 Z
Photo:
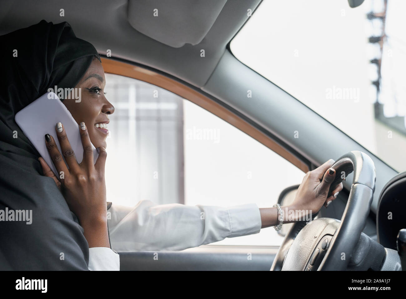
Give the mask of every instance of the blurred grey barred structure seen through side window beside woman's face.
M 154 85 L 106 74 L 109 116 L 107 201 L 184 203 L 183 101 Z

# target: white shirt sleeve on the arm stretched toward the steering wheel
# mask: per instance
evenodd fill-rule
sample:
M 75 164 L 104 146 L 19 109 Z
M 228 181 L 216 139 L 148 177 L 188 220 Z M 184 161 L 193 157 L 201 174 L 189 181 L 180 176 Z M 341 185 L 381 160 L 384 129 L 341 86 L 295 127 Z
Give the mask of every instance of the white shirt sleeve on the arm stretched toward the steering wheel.
M 256 204 L 222 208 L 142 200 L 135 207 L 112 204 L 108 212 L 110 244 L 118 252 L 183 250 L 257 234 L 262 225 Z

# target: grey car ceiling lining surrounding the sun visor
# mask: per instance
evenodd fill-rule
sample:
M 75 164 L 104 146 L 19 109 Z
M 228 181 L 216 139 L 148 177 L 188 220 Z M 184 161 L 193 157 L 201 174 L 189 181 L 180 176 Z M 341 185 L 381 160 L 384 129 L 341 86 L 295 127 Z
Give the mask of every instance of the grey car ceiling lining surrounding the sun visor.
M 151 7 L 155 6 L 151 6 L 149 2 L 149 0 L 137 0 L 138 6 L 144 5 L 145 11 L 152 15 Z M 166 5 L 170 6 L 174 3 L 179 6 L 181 13 L 190 13 L 190 11 L 182 11 L 183 1 L 155 2 L 159 2 L 156 7 L 161 15 L 164 15 Z M 205 0 L 205 2 L 208 1 Z M 106 51 L 110 49 L 115 58 L 141 63 L 171 74 L 196 87 L 203 87 L 225 52 L 229 41 L 248 20 L 247 9 L 254 11 L 259 2 L 260 0 L 227 1 L 216 19 L 218 11 L 213 9 L 212 19 L 215 21 L 203 40 L 197 45 L 187 43 L 181 48 L 173 48 L 135 30 L 129 22 L 131 16 L 127 15 L 128 0 L 43 0 L 41 5 L 32 0 L 2 1 L 0 34 L 36 24 L 42 19 L 54 23 L 67 21 L 71 24 L 76 36 L 91 42 L 100 54 L 106 55 Z M 190 6 L 186 7 L 190 9 Z M 196 9 L 199 7 L 196 6 Z M 64 9 L 64 17 L 60 16 L 60 9 Z M 173 15 L 173 18 L 176 17 L 177 15 Z M 210 19 L 207 19 L 206 26 L 209 28 L 211 23 Z M 167 20 L 167 23 L 171 21 Z M 162 26 L 164 23 L 154 24 L 153 22 L 150 24 L 156 27 L 152 28 L 153 31 L 165 30 Z M 194 22 L 184 26 L 192 28 Z M 167 33 L 172 34 L 173 39 L 179 39 L 177 32 Z M 201 49 L 205 50 L 205 57 L 200 56 Z

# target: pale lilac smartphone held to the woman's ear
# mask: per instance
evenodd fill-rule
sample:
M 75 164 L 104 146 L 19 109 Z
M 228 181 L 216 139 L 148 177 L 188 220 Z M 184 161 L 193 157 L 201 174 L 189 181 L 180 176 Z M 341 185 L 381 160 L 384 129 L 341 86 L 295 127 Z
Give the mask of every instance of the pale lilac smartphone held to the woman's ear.
M 51 160 L 45 143 L 45 134 L 52 135 L 59 152 L 62 154 L 55 131 L 56 123 L 60 122 L 63 124 L 69 143 L 75 153 L 76 160 L 78 160 L 78 163 L 82 162 L 83 146 L 82 140 L 80 139 L 79 125 L 55 93 L 45 93 L 24 109 L 17 112 L 15 122 L 35 146 L 45 162 L 51 167 L 52 171 L 54 171 L 57 178 L 59 178 L 59 174 Z M 96 163 L 99 154 L 93 144 L 92 147 L 93 160 L 94 163 Z M 63 159 L 65 160 L 65 158 Z

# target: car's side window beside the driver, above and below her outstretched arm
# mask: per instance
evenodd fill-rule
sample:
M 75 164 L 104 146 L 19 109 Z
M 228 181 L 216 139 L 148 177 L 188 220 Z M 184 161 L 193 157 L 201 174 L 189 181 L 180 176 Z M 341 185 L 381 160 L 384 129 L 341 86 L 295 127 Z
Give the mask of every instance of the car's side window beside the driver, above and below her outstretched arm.
M 244 132 L 154 85 L 106 74 L 110 115 L 107 199 L 272 207 L 304 173 Z M 283 125 L 283 124 L 281 124 Z M 280 245 L 273 228 L 213 245 Z

